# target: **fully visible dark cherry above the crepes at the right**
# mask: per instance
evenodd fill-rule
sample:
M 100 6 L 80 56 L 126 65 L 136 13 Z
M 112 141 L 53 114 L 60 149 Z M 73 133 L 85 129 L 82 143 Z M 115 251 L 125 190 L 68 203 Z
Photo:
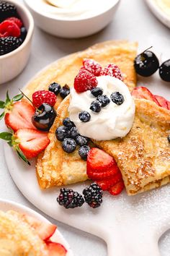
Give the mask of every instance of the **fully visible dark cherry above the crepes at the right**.
M 158 58 L 148 49 L 136 56 L 134 61 L 135 71 L 143 77 L 151 76 L 159 67 Z

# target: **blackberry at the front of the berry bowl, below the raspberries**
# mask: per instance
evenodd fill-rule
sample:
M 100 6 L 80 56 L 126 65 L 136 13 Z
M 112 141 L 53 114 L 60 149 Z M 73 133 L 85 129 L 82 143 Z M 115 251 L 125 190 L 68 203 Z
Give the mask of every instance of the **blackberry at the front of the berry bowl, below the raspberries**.
M 0 56 L 14 51 L 21 45 L 22 41 L 19 38 L 8 36 L 0 38 Z

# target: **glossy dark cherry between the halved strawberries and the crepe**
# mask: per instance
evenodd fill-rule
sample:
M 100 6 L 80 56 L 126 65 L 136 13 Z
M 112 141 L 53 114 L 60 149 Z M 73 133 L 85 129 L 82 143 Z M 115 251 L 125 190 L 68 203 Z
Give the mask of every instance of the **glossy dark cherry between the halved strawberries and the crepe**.
M 55 109 L 49 104 L 43 103 L 36 109 L 34 116 L 32 116 L 32 124 L 34 124 L 37 129 L 49 131 L 56 116 Z

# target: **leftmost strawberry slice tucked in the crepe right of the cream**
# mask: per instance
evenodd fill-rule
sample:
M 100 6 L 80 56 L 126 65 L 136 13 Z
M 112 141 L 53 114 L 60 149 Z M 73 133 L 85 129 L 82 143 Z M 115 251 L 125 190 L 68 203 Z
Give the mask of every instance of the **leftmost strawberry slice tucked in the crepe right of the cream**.
M 133 89 L 132 95 L 135 98 L 145 98 L 148 101 L 154 101 L 158 106 L 160 106 L 155 96 L 146 87 L 140 86 Z

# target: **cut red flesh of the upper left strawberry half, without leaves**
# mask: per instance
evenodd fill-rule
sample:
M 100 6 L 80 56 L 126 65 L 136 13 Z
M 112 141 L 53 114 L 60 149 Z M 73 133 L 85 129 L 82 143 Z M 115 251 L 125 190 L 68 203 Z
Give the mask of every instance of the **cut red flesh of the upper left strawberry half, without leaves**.
M 35 114 L 35 108 L 26 100 L 17 101 L 12 108 L 5 114 L 5 124 L 17 131 L 17 129 L 30 128 L 36 129 L 32 124 L 32 116 Z

